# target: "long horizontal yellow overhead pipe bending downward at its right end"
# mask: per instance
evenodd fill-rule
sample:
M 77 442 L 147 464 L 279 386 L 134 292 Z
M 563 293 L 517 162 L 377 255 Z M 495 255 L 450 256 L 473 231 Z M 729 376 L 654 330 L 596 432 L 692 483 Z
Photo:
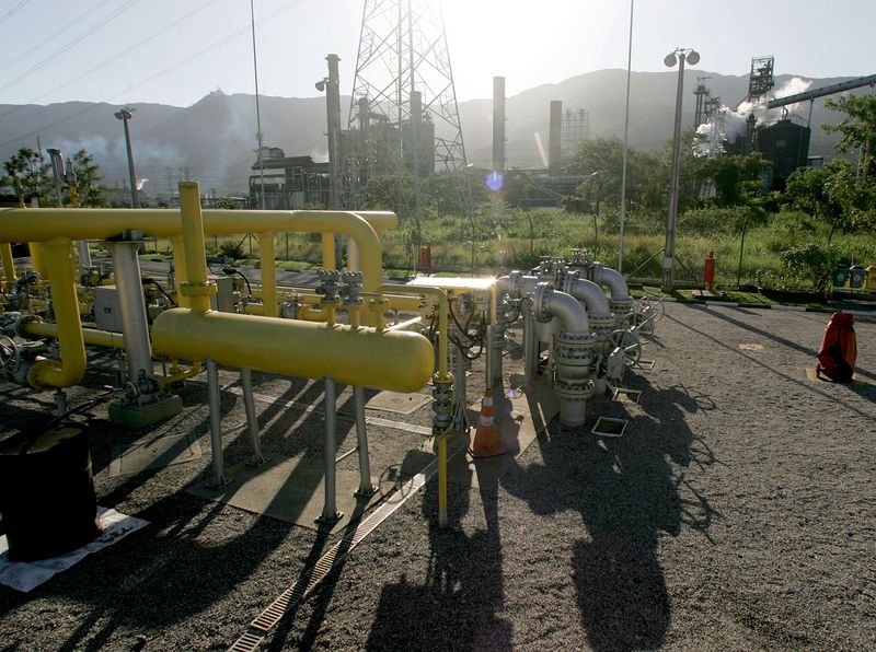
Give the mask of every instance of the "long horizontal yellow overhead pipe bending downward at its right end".
M 149 237 L 172 237 L 182 233 L 181 210 L 41 208 L 36 214 L 28 209 L 0 209 L 0 242 L 43 242 L 58 236 L 70 240 L 106 240 L 126 230 L 139 230 Z M 359 247 L 362 289 L 373 292 L 381 283 L 380 238 L 371 225 L 354 212 L 211 209 L 201 214 L 204 232 L 210 235 L 263 231 L 343 233 L 351 237 Z M 324 256 L 326 252 L 323 253 Z M 334 245 L 327 263 L 335 263 Z

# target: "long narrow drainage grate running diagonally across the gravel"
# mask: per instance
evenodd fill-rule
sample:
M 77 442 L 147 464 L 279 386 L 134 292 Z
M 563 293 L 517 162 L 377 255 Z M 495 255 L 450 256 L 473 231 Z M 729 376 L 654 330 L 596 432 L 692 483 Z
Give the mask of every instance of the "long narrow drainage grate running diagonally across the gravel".
M 370 516 L 360 521 L 355 526 L 349 526 L 344 537 L 313 564 L 313 568 L 306 577 L 296 581 L 286 591 L 280 593 L 264 612 L 250 622 L 243 636 L 229 648 L 229 652 L 253 652 L 257 650 L 267 633 L 280 621 L 290 607 L 304 599 L 320 582 L 328 577 L 328 573 L 332 572 L 337 561 L 343 559 L 346 554 L 355 548 L 365 537 L 377 529 L 378 525 L 389 519 L 395 510 L 402 507 L 407 499 L 420 489 L 436 473 L 438 473 L 437 459 L 433 461 L 422 473 L 418 473 L 402 486 L 402 489 L 399 491 L 399 494 L 402 497 L 401 500 L 397 502 L 384 502 L 374 510 Z

